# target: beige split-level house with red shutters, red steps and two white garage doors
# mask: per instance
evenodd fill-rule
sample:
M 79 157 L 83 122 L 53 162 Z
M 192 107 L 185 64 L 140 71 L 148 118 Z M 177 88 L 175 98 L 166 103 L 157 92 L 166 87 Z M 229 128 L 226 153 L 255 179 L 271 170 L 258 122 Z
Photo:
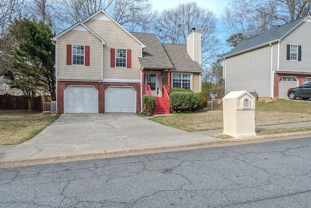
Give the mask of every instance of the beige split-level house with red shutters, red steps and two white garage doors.
M 155 114 L 170 113 L 171 87 L 201 91 L 201 34 L 161 44 L 132 33 L 100 10 L 52 38 L 58 113 L 136 113 L 153 95 Z

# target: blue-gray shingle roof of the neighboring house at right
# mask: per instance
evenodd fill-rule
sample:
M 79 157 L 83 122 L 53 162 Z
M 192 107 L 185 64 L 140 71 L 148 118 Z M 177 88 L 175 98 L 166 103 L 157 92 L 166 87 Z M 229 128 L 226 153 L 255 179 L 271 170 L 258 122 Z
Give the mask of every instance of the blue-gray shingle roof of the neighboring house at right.
M 274 26 L 264 33 L 261 33 L 252 38 L 245 39 L 241 43 L 239 43 L 236 47 L 234 47 L 231 51 L 226 53 L 223 57 L 230 57 L 232 55 L 242 53 L 243 51 L 247 51 L 252 48 L 256 48 L 258 46 L 277 41 L 283 38 L 289 32 L 291 32 L 297 25 L 299 25 L 302 21 L 304 21 L 308 17 L 310 16 L 296 19 L 292 22 L 289 22 L 289 23 L 286 23 L 280 26 L 278 25 Z

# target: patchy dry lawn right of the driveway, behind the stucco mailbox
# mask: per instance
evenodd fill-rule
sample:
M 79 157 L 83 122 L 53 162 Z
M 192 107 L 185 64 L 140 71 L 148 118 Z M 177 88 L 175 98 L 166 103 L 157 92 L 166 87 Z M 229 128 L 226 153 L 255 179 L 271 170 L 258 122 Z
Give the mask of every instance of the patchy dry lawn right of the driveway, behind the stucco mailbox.
M 175 116 L 158 116 L 151 120 L 187 132 L 223 129 L 222 102 L 214 101 L 213 111 L 174 113 Z M 276 99 L 269 102 L 257 101 L 255 106 L 257 126 L 311 121 L 311 102 Z

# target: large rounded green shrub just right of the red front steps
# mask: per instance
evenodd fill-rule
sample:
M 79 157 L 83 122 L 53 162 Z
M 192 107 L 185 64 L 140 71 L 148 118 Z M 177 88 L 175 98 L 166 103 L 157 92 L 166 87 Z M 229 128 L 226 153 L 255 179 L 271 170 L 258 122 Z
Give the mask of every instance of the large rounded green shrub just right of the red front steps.
M 170 94 L 170 107 L 173 112 L 195 111 L 199 98 L 193 92 L 173 92 Z

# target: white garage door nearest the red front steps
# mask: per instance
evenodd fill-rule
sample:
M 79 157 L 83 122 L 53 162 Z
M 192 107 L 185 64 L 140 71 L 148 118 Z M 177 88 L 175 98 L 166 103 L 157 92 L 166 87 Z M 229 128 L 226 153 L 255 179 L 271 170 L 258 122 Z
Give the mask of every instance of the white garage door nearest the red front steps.
M 109 87 L 105 91 L 105 113 L 136 113 L 136 91 L 132 87 Z

